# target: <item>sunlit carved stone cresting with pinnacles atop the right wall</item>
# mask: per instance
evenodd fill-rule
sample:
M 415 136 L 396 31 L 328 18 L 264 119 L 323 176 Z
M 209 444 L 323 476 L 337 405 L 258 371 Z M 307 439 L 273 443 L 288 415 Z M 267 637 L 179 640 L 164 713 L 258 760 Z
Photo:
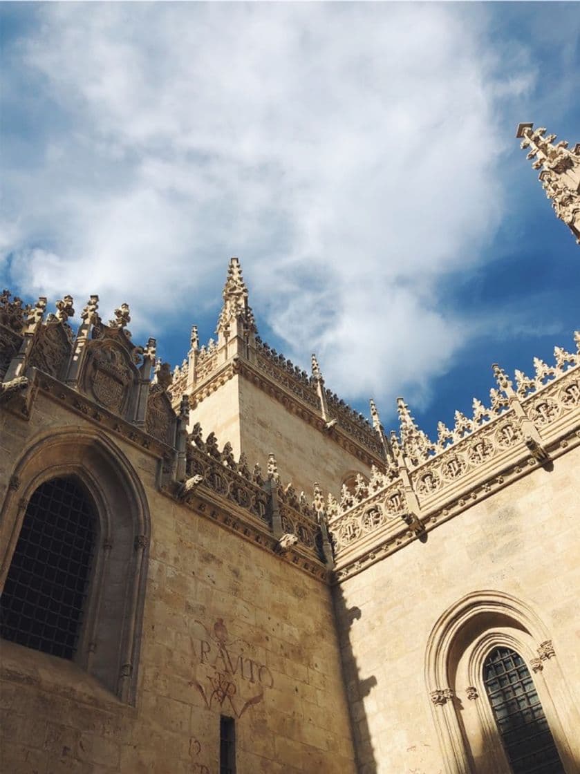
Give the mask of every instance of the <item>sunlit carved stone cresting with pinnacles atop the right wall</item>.
M 391 433 L 392 457 L 386 454 L 382 470 L 374 468 L 368 483 L 343 487 L 328 509 L 337 580 L 421 538 L 425 529 L 535 465 L 551 464 L 554 454 L 578 443 L 580 333 L 574 339 L 575 351 L 554 348 L 553 365 L 536 358 L 533 377 L 517 371 L 512 380 L 494 365 L 497 388 L 490 391 L 489 406 L 474 399 L 473 415 L 455 412 L 452 430 L 439 423 L 436 441 L 420 430 L 407 403 L 397 400 L 400 434 Z M 554 426 L 567 437 L 552 440 Z M 376 507 L 388 518 L 381 519 Z M 393 521 L 392 515 L 402 518 Z

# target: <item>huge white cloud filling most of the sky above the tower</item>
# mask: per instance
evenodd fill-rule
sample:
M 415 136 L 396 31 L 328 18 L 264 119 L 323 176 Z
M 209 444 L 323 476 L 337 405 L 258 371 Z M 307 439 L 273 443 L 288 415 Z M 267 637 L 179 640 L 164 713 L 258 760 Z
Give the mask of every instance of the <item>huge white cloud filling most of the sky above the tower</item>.
M 499 100 L 532 77 L 497 74 L 481 10 L 39 14 L 23 63 L 68 123 L 47 130 L 32 177 L 8 170 L 24 213 L 9 222 L 14 279 L 129 300 L 138 326 L 159 327 L 164 308 L 203 306 L 239 255 L 288 354 L 317 351 L 352 397 L 420 396 L 472 335 L 438 283 L 477 264 L 499 223 L 498 152 L 513 142 Z

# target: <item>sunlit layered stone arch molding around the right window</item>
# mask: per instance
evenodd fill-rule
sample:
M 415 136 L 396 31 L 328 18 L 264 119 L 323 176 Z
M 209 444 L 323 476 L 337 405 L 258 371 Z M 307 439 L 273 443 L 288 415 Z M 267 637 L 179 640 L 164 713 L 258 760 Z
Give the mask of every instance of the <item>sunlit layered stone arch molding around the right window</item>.
M 438 618 L 427 640 L 424 679 L 447 774 L 509 770 L 482 683 L 483 659 L 492 647 L 506 645 L 530 666 L 538 646 L 551 639 L 530 604 L 503 591 L 474 591 Z M 558 658 L 546 661 L 534 683 L 565 771 L 573 772 L 580 760 L 574 730 L 580 714 Z

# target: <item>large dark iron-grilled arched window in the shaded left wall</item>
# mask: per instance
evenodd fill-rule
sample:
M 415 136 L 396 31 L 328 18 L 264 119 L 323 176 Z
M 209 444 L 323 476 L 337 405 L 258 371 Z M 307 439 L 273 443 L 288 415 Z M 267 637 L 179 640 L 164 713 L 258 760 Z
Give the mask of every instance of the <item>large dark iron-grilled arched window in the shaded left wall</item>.
M 0 635 L 72 659 L 77 649 L 97 519 L 74 478 L 53 478 L 29 500 L 0 607 Z

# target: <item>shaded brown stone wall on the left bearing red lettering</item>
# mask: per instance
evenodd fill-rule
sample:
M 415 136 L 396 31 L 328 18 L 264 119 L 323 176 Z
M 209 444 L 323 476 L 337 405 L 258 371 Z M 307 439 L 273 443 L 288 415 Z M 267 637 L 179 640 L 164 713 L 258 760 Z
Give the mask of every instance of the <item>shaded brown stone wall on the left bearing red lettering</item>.
M 35 438 L 94 432 L 59 400 L 40 391 L 28 421 L 2 413 L 2 495 Z M 2 769 L 209 774 L 224 714 L 240 774 L 354 772 L 328 586 L 160 491 L 153 449 L 98 432 L 150 511 L 136 705 L 76 663 L 2 641 Z

